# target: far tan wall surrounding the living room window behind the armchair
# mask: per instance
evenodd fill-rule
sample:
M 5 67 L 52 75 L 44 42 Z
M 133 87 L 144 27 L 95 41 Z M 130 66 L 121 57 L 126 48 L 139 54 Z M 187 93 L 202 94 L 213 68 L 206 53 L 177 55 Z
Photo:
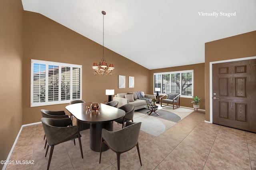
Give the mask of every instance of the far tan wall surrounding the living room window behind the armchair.
M 194 70 L 194 96 L 198 96 L 202 98 L 199 105 L 200 109 L 205 109 L 204 104 L 204 63 L 200 64 L 192 64 L 192 65 L 184 65 L 179 67 L 169 67 L 163 69 L 153 69 L 150 70 L 150 89 L 153 90 L 154 87 L 154 73 L 162 73 L 162 72 L 170 72 L 170 71 L 182 71 L 182 70 Z M 151 92 L 153 93 L 153 92 Z M 180 106 L 184 107 L 192 107 L 191 98 L 181 98 Z

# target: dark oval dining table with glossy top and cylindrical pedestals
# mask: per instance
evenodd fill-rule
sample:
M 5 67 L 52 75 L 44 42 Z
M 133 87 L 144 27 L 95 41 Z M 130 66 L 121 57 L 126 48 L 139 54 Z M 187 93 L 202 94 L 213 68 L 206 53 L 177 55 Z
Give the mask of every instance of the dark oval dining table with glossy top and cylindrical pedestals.
M 80 131 L 90 128 L 90 148 L 100 152 L 102 129 L 113 131 L 113 121 L 124 117 L 125 111 L 103 103 L 99 103 L 100 108 L 94 111 L 89 109 L 91 104 L 92 102 L 76 103 L 66 106 L 66 109 L 76 118 Z M 102 151 L 108 149 L 103 142 Z

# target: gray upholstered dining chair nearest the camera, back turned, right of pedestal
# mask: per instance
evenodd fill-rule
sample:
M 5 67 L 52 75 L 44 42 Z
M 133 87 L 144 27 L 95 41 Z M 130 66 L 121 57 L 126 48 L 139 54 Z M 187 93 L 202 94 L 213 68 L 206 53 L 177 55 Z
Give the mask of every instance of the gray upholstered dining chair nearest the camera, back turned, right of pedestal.
M 111 150 L 116 152 L 118 170 L 120 170 L 120 154 L 127 152 L 128 150 L 131 150 L 132 148 L 137 146 L 137 151 L 140 158 L 138 138 L 140 134 L 141 122 L 127 122 L 125 126 L 125 128 L 116 131 L 108 131 L 106 129 L 102 129 L 102 137 L 100 143 L 100 160 L 102 152 L 102 142 L 105 142 Z M 141 158 L 140 166 L 142 166 Z

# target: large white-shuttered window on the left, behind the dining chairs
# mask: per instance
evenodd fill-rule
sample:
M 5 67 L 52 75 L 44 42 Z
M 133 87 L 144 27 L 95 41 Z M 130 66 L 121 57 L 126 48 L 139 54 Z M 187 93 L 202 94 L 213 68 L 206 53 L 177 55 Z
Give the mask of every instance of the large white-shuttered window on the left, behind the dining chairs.
M 82 65 L 31 60 L 31 107 L 82 99 Z

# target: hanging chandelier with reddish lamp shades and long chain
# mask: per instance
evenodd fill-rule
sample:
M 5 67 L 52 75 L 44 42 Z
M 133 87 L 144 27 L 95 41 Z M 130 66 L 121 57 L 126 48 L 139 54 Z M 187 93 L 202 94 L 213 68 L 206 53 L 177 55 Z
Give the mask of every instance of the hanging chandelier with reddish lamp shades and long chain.
M 114 65 L 111 63 L 108 67 L 106 60 L 104 59 L 104 15 L 106 15 L 105 11 L 101 12 L 103 14 L 103 57 L 100 60 L 100 63 L 97 64 L 96 62 L 93 63 L 92 69 L 94 75 L 113 75 L 112 70 L 114 70 Z

